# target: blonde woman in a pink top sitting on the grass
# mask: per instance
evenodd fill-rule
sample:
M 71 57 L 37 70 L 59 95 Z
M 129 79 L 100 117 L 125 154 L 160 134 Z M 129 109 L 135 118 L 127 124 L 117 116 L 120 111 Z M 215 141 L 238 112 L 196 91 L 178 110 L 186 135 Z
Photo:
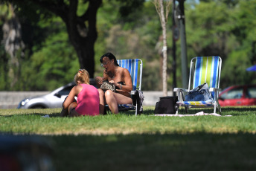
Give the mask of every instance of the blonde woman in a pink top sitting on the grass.
M 80 69 L 74 76 L 74 86 L 68 97 L 63 103 L 63 110 L 68 109 L 68 116 L 100 114 L 100 98 L 99 92 L 95 86 L 89 85 L 89 73 L 85 69 Z M 77 96 L 77 102 L 74 102 L 74 97 Z

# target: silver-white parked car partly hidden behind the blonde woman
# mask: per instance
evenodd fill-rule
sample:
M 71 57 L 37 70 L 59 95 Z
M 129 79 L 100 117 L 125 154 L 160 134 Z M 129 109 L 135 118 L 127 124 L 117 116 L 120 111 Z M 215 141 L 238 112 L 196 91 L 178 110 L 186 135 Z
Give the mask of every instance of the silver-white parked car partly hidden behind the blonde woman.
M 90 80 L 90 84 L 95 86 L 95 80 Z M 68 96 L 74 86 L 74 83 L 68 83 L 65 86 L 51 91 L 49 94 L 39 97 L 25 98 L 19 103 L 17 109 L 62 108 L 65 97 Z

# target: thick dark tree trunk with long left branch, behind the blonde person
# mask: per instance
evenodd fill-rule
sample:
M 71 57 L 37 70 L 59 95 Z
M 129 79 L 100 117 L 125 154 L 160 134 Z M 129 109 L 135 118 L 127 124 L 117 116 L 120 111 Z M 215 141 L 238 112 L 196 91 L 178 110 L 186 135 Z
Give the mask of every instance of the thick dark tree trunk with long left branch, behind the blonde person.
M 91 78 L 95 73 L 95 42 L 97 39 L 96 15 L 102 4 L 102 0 L 87 0 L 87 10 L 81 16 L 77 16 L 78 0 L 67 1 L 39 1 L 30 0 L 60 16 L 65 22 L 68 38 L 77 52 L 80 68 L 89 72 Z M 80 1 L 80 3 L 82 3 Z M 77 68 L 78 69 L 78 68 Z

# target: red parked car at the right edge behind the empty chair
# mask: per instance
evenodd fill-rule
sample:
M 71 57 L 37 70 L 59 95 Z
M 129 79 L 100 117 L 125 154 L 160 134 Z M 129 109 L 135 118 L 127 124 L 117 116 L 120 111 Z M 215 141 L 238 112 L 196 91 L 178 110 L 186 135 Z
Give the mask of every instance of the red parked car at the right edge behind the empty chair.
M 256 105 L 256 85 L 230 86 L 219 95 L 220 106 Z

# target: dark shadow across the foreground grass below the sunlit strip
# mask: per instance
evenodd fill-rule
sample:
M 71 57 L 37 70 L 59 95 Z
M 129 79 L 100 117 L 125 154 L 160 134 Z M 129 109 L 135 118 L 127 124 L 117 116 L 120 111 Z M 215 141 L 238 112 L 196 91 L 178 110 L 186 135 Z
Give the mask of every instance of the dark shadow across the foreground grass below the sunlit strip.
M 47 138 L 55 142 L 57 170 L 256 170 L 256 136 L 252 134 Z

